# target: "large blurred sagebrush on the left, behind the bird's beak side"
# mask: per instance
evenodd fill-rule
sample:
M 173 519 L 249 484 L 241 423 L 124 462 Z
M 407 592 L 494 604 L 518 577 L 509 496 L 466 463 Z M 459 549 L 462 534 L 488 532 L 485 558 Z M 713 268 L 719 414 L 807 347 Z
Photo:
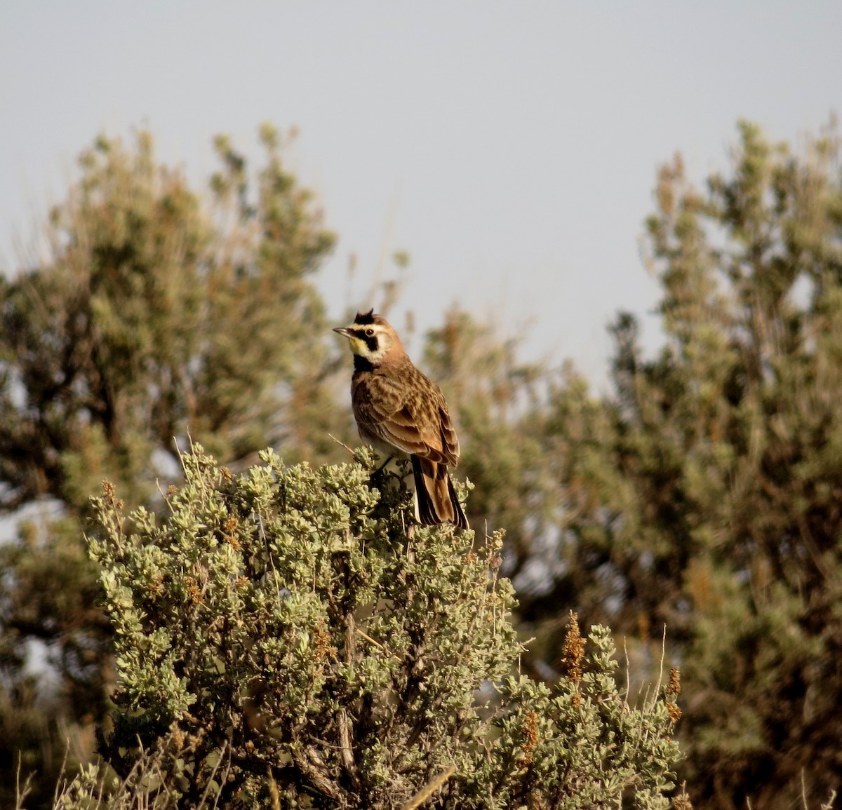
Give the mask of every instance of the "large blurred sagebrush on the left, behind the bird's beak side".
M 0 548 L 4 722 L 34 694 L 34 639 L 71 717 L 103 710 L 110 631 L 79 520 L 104 477 L 155 507 L 188 436 L 244 464 L 280 444 L 324 459 L 328 429 L 348 432 L 311 281 L 333 235 L 285 170 L 278 133 L 265 125 L 260 138 L 254 177 L 216 139 L 205 205 L 156 162 L 148 132 L 133 147 L 100 137 L 51 212 L 48 258 L 0 280 L 0 507 L 52 506 Z M 7 774 L 19 744 L 4 735 Z

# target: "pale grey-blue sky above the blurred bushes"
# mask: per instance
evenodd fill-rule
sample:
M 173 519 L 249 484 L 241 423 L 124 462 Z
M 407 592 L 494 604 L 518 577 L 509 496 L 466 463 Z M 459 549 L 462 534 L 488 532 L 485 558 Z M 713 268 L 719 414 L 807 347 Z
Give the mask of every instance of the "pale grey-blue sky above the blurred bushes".
M 378 304 L 381 257 L 403 250 L 398 328 L 458 302 L 599 383 L 605 325 L 657 300 L 639 238 L 658 164 L 678 150 L 695 179 L 727 168 L 740 118 L 775 140 L 818 131 L 842 111 L 840 41 L 842 3 L 810 0 L 9 0 L 0 269 L 100 131 L 149 126 L 198 188 L 212 136 L 257 154 L 270 120 L 300 131 L 290 166 L 338 232 L 317 280 L 332 317 Z

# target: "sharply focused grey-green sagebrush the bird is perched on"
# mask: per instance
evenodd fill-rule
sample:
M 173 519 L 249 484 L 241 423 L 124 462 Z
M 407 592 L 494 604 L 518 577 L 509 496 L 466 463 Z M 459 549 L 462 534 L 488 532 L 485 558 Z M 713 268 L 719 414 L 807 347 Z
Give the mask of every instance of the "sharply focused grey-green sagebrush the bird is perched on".
M 367 450 L 261 457 L 234 477 L 196 446 L 163 525 L 95 499 L 120 689 L 110 767 L 59 807 L 669 806 L 676 681 L 633 708 L 575 617 L 560 682 L 518 674 L 502 533 L 413 525 Z

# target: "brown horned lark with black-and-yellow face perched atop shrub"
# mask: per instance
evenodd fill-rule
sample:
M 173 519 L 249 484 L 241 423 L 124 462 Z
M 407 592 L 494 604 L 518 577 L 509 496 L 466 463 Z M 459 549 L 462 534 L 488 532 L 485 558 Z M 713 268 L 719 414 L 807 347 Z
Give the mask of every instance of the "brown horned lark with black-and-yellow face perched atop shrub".
M 440 387 L 415 368 L 401 338 L 374 310 L 333 331 L 348 338 L 354 353 L 351 401 L 360 437 L 386 461 L 412 461 L 418 523 L 467 529 L 447 473 L 459 461 L 459 440 Z

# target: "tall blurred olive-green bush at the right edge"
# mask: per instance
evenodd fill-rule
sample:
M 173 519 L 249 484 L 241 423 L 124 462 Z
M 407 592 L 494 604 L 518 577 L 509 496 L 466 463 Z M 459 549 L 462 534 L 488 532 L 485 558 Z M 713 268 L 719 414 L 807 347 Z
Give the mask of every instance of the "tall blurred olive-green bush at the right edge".
M 657 359 L 622 313 L 616 396 L 552 396 L 564 573 L 533 609 L 642 651 L 667 626 L 697 807 L 818 807 L 842 774 L 842 152 L 834 127 L 800 157 L 740 135 L 706 194 L 660 173 Z

